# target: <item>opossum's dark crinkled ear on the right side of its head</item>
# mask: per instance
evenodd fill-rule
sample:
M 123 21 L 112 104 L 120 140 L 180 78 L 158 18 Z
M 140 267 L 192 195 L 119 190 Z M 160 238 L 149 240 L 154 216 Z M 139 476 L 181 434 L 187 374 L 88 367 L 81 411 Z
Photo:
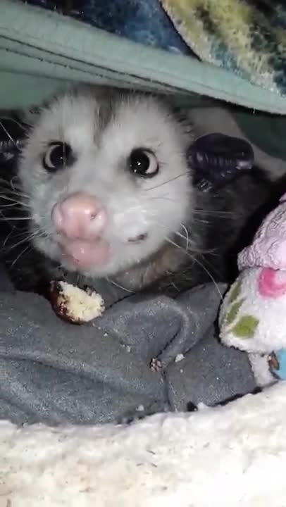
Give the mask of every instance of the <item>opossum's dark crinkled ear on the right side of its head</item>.
M 245 139 L 213 133 L 199 137 L 189 146 L 187 161 L 195 187 L 211 192 L 251 170 L 254 151 Z

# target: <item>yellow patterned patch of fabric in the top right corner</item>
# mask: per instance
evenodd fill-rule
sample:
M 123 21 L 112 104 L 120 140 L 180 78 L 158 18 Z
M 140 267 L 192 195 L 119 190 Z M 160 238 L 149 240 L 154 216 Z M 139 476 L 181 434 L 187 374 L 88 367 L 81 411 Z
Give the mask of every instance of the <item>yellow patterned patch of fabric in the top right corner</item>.
M 286 94 L 286 7 L 277 0 L 161 0 L 203 61 Z

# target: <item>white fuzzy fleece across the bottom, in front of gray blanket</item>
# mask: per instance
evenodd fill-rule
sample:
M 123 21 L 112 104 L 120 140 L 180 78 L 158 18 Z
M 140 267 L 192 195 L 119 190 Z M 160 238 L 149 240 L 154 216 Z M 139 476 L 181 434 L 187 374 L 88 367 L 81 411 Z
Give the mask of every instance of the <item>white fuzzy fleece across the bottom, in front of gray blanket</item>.
M 286 384 L 125 426 L 0 423 L 0 507 L 285 507 Z

